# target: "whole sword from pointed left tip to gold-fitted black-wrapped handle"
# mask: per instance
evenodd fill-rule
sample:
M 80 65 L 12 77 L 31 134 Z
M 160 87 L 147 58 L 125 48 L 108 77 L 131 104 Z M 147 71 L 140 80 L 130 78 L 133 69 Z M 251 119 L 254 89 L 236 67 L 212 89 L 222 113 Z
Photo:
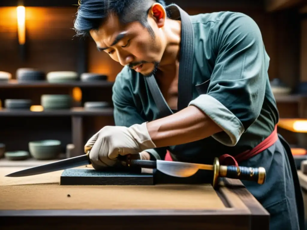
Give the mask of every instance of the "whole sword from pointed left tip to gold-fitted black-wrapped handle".
M 122 156 L 121 156 L 122 157 Z M 214 171 L 213 187 L 216 187 L 219 177 L 234 178 L 240 180 L 255 181 L 258 184 L 263 184 L 266 179 L 266 171 L 263 167 L 236 167 L 220 165 L 219 159 L 215 158 L 213 165 L 195 164 L 164 160 L 135 160 L 131 159 L 131 155 L 125 156 L 123 159 L 126 162 L 126 167 L 142 167 L 142 168 L 157 168 L 164 174 L 174 177 L 189 177 L 195 174 L 199 169 Z M 59 160 L 54 163 L 49 163 L 41 166 L 31 167 L 21 171 L 17 171 L 6 175 L 7 177 L 24 177 L 37 174 L 43 174 L 53 171 L 64 170 L 91 164 L 89 155 L 81 155 L 64 160 Z

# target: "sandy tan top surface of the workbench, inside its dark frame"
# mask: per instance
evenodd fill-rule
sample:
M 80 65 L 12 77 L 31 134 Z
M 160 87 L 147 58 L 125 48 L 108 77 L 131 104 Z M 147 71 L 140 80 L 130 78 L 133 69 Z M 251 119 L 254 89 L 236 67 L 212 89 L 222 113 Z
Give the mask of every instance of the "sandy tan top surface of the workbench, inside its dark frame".
M 0 168 L 0 210 L 225 209 L 209 184 L 62 186 L 60 175 L 63 171 L 19 178 L 5 177 L 22 169 Z

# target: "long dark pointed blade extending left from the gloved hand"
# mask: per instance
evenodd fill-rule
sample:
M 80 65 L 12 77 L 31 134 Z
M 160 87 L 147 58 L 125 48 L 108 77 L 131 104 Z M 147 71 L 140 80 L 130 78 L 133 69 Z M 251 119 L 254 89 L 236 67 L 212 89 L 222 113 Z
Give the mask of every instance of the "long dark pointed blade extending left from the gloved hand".
M 72 158 L 68 158 L 64 160 L 59 160 L 53 163 L 48 163 L 48 164 L 44 164 L 40 166 L 23 169 L 21 171 L 7 174 L 6 177 L 32 176 L 32 175 L 37 175 L 37 174 L 64 170 L 68 168 L 84 166 L 88 164 L 91 164 L 91 161 L 89 160 L 88 156 L 85 154 L 85 155 L 76 156 L 76 157 L 72 157 Z

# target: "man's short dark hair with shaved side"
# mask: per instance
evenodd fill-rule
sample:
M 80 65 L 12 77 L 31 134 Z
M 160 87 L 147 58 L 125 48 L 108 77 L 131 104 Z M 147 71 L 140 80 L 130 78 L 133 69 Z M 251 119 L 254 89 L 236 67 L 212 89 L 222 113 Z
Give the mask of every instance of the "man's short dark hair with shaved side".
M 147 15 L 155 2 L 166 7 L 164 0 L 79 0 L 74 21 L 76 35 L 88 36 L 90 30 L 98 30 L 110 13 L 115 13 L 122 23 L 139 21 L 152 34 Z

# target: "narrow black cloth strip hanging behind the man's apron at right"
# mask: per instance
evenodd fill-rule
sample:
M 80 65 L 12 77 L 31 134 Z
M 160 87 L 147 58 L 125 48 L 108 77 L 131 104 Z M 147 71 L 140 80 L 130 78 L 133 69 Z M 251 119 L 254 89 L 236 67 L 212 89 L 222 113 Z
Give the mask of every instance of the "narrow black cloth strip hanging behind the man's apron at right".
M 282 135 L 278 134 L 278 137 L 282 145 L 284 146 L 288 159 L 289 159 L 292 177 L 293 177 L 294 189 L 295 189 L 295 199 L 296 199 L 296 205 L 297 205 L 298 221 L 300 225 L 300 230 L 304 230 L 305 229 L 304 200 L 303 200 L 303 195 L 301 191 L 301 185 L 300 185 L 298 175 L 297 175 L 297 168 L 295 165 L 295 160 L 293 158 L 292 151 L 291 151 L 291 148 L 288 142 L 282 137 Z

